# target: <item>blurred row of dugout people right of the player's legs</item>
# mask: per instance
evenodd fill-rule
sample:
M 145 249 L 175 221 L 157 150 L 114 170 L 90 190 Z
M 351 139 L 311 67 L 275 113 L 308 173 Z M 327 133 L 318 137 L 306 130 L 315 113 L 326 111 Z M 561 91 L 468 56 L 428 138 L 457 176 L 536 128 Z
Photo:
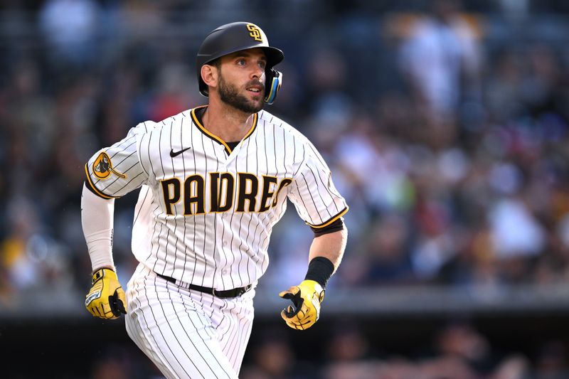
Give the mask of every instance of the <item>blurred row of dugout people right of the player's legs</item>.
M 272 333 L 275 335 L 275 333 Z M 276 334 L 277 336 L 278 333 Z M 254 347 L 245 379 L 533 379 L 566 378 L 565 346 L 548 341 L 533 351 L 500 351 L 472 325 L 442 326 L 427 344 L 405 354 L 378 346 L 349 322 L 339 323 L 314 362 L 290 348 L 287 338 L 265 338 Z

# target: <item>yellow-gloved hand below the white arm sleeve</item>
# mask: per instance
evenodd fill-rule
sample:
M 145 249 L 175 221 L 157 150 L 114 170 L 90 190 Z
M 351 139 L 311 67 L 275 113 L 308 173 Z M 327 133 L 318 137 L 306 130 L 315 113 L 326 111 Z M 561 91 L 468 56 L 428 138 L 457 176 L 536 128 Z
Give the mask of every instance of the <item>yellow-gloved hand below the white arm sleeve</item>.
M 127 314 L 127 300 L 117 274 L 112 269 L 97 269 L 92 277 L 92 287 L 85 297 L 85 307 L 100 319 L 117 319 Z

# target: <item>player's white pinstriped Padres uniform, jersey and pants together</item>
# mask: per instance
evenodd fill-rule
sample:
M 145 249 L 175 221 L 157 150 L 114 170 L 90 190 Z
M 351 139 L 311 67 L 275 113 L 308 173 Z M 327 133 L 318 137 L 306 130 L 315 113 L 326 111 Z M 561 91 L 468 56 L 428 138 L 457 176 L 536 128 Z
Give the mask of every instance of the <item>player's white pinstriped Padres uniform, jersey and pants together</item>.
M 263 110 L 228 144 L 203 127 L 205 109 L 138 124 L 85 166 L 87 188 L 102 198 L 141 188 L 127 331 L 169 378 L 237 377 L 287 198 L 314 230 L 348 210 L 324 159 L 292 126 Z M 216 296 L 233 289 L 239 296 Z

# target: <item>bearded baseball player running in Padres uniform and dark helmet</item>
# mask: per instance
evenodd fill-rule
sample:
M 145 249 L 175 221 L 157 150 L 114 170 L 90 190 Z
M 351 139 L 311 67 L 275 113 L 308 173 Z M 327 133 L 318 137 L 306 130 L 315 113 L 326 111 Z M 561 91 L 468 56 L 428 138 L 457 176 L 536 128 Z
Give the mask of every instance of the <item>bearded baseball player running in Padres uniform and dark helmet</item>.
M 93 270 L 85 306 L 102 319 L 126 314 L 130 338 L 167 378 L 238 377 L 287 198 L 314 231 L 304 281 L 280 293 L 288 326 L 319 319 L 344 253 L 348 206 L 328 166 L 306 137 L 262 110 L 280 89 L 274 66 L 283 58 L 253 23 L 216 28 L 197 56 L 208 105 L 142 122 L 85 165 L 81 215 Z M 137 188 L 139 265 L 125 294 L 112 260 L 113 209 Z

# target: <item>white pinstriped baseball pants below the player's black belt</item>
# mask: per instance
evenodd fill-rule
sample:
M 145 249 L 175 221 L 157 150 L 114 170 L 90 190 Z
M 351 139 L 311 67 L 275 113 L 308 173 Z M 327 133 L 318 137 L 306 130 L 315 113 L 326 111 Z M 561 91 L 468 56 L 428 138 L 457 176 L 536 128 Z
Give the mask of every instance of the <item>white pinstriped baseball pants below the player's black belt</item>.
M 255 289 L 232 299 L 184 289 L 139 264 L 127 287 L 127 333 L 166 378 L 237 378 Z

